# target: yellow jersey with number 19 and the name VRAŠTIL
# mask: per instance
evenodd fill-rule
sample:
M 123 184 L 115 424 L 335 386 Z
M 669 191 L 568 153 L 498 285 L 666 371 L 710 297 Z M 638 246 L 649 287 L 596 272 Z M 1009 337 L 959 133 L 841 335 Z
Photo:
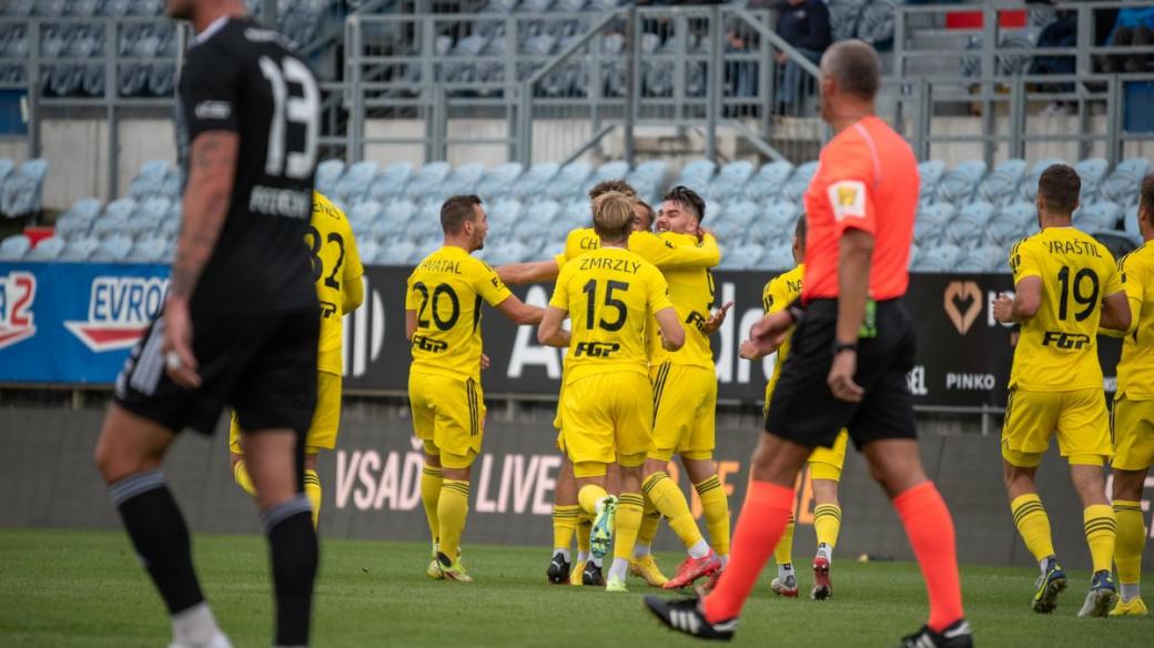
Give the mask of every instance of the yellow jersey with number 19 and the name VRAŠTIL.
M 1073 227 L 1047 227 L 1010 250 L 1017 286 L 1042 280 L 1037 314 L 1021 325 L 1010 387 L 1027 391 L 1102 389 L 1097 324 L 1102 299 L 1122 291 L 1106 246 Z

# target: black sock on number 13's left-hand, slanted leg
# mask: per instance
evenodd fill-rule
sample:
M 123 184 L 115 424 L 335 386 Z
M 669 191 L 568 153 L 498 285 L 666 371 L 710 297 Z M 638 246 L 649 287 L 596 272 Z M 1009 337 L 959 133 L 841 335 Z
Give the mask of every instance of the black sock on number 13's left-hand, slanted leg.
M 108 487 L 108 493 L 168 613 L 204 602 L 193 570 L 188 527 L 164 475 L 159 470 L 136 473 Z

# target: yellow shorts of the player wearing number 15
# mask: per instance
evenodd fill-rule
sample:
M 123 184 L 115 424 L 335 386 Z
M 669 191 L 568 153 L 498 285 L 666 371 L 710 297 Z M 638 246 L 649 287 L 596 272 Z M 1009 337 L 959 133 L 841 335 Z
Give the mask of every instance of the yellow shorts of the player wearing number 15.
M 653 390 L 635 371 L 610 371 L 565 385 L 562 442 L 574 464 L 634 467 L 652 444 Z

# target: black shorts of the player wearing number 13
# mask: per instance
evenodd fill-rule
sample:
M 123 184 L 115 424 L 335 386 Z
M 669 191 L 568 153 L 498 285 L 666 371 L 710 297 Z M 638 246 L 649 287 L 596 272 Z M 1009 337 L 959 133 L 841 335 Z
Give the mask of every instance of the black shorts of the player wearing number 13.
M 117 378 L 115 402 L 173 431 L 210 435 L 225 407 L 241 429 L 305 434 L 316 406 L 316 309 L 269 315 L 193 314 L 201 386 L 165 372 L 164 318 L 149 326 Z

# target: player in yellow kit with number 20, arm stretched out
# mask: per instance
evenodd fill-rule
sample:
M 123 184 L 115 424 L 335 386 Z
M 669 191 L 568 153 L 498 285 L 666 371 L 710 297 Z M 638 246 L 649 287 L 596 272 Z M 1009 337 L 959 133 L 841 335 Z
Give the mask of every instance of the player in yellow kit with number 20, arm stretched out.
M 485 262 L 489 226 L 477 196 L 441 205 L 444 246 L 425 257 L 405 291 L 405 337 L 412 341 L 409 402 L 413 431 L 425 443 L 421 503 L 433 535 L 434 579 L 469 582 L 460 536 L 469 513 L 470 467 L 485 436 L 481 391 L 481 301 L 517 324 L 537 324 L 544 309 L 526 306 Z

